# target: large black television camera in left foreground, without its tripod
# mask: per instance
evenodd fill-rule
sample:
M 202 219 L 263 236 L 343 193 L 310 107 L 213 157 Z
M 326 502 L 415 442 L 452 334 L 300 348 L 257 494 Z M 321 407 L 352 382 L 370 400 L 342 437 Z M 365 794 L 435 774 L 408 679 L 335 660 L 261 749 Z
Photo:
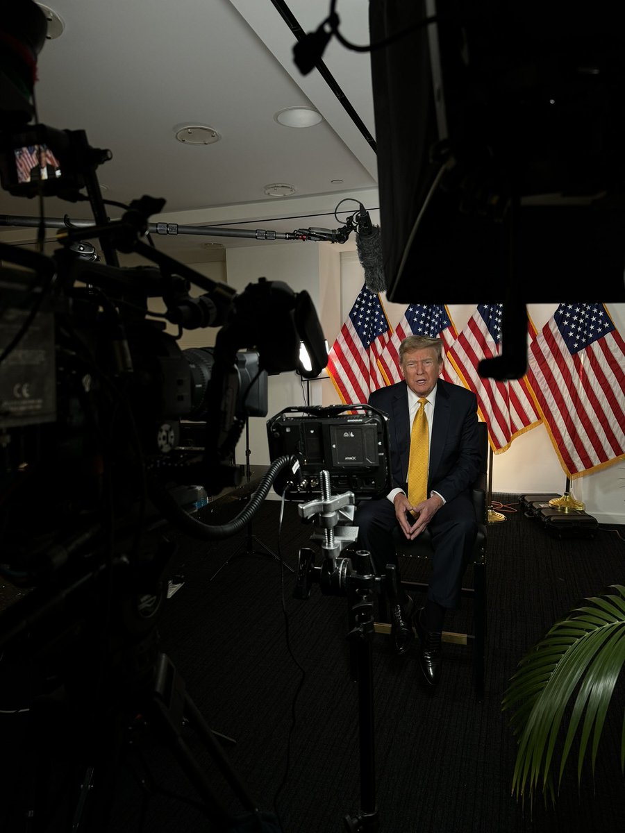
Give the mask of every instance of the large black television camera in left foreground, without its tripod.
M 7 164 L 5 155 L 2 170 Z M 232 456 L 247 416 L 259 412 L 263 377 L 308 377 L 325 364 L 307 292 L 261 278 L 236 293 L 143 242 L 148 212 L 161 202 L 143 197 L 95 231 L 69 228 L 49 258 L 0 247 L 2 562 L 13 581 L 37 583 L 67 561 L 98 560 L 111 538 L 127 547 L 161 513 L 184 522 L 177 486 L 214 495 L 240 480 Z M 158 268 L 82 259 L 73 246 L 94 233 Z M 192 284 L 205 292 L 192 297 Z M 150 312 L 153 298 L 164 302 L 164 320 Z M 181 349 L 166 322 L 180 334 L 220 327 L 214 349 Z M 301 341 L 310 371 L 299 361 Z M 242 363 L 242 348 L 257 354 L 257 367 Z M 185 445 L 189 422 L 203 423 L 203 447 Z

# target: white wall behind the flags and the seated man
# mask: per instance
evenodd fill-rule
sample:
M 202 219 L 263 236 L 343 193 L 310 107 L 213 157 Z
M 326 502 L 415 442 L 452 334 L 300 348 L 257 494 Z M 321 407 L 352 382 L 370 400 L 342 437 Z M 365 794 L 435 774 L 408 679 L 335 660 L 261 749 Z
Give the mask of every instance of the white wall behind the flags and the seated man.
M 353 301 L 363 285 L 363 269 L 353 245 L 313 242 L 260 243 L 258 247 L 229 248 L 226 271 L 228 285 L 243 291 L 259 277 L 283 281 L 294 292 L 307 290 L 318 311 L 323 332 L 332 344 Z M 562 298 L 563 301 L 566 298 Z M 404 305 L 384 302 L 393 327 L 403 317 Z M 625 336 L 625 304 L 607 304 L 608 311 Z M 458 331 L 475 312 L 475 305 L 448 304 Z M 527 307 L 538 330 L 551 317 L 556 305 L 530 304 Z M 202 336 L 194 337 L 196 343 Z M 213 342 L 210 342 L 213 343 Z M 185 339 L 185 346 L 190 346 Z M 307 386 L 297 373 L 282 373 L 269 378 L 268 416 L 285 407 L 302 406 L 310 397 L 311 404 L 338 404 L 340 399 L 328 378 L 313 380 Z M 250 419 L 250 463 L 269 462 L 267 427 L 263 417 Z M 245 463 L 245 443 L 239 443 L 237 462 Z M 522 495 L 555 493 L 566 489 L 566 475 L 552 447 L 544 426 L 540 425 L 518 436 L 507 451 L 493 455 L 493 492 Z M 625 461 L 602 471 L 572 481 L 570 492 L 583 501 L 586 510 L 602 523 L 625 523 Z

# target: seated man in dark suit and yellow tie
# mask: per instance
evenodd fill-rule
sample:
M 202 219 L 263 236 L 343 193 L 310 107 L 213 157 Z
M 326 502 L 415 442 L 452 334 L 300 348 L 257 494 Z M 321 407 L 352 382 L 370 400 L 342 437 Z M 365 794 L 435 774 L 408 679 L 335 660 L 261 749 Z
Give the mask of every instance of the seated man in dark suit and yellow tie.
M 369 404 L 388 415 L 388 443 L 393 489 L 388 496 L 362 501 L 354 523 L 358 549 L 371 553 L 377 575 L 395 566 L 398 595 L 385 587 L 390 603 L 391 639 L 398 654 L 413 641 L 413 623 L 419 636 L 419 666 L 428 685 L 440 676 L 441 632 L 445 611 L 460 601 L 463 573 L 471 555 L 478 526 L 469 492 L 478 475 L 478 401 L 472 391 L 445 382 L 443 342 L 439 338 L 409 336 L 399 349 L 404 381 L 374 391 Z M 410 492 L 408 461 L 411 426 L 419 399 L 428 420 L 427 491 L 418 501 Z M 425 402 L 427 400 L 427 402 Z M 424 486 L 425 488 L 425 486 Z M 413 503 L 408 495 L 413 497 Z M 393 531 L 400 528 L 408 539 L 428 528 L 432 536 L 433 573 L 425 606 L 413 610 L 413 600 L 399 585 L 398 558 Z

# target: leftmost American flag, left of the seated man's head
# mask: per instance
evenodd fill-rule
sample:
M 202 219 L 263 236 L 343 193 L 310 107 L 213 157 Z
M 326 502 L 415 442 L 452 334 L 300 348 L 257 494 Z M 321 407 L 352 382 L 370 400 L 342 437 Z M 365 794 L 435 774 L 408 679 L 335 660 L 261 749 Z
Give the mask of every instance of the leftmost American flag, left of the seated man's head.
M 363 285 L 328 352 L 328 375 L 346 404 L 367 402 L 372 391 L 386 386 L 378 357 L 389 336 L 380 297 Z

